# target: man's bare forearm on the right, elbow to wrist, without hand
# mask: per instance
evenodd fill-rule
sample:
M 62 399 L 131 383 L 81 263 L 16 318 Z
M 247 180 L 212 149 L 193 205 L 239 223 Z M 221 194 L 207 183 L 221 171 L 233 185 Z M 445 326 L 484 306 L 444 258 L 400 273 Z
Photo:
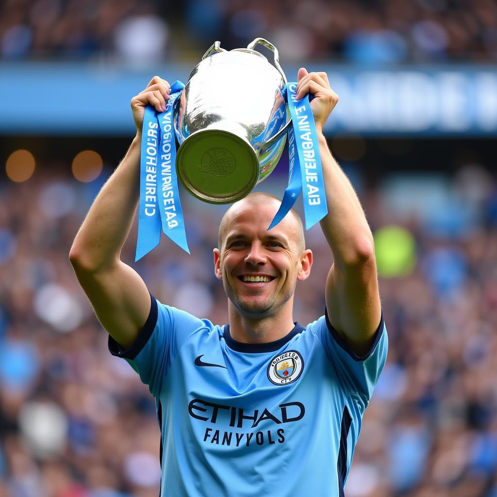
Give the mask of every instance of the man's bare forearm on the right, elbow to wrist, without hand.
M 326 138 L 318 131 L 323 165 L 328 215 L 321 228 L 333 252 L 335 262 L 354 263 L 370 255 L 373 237 L 349 179 L 333 159 Z

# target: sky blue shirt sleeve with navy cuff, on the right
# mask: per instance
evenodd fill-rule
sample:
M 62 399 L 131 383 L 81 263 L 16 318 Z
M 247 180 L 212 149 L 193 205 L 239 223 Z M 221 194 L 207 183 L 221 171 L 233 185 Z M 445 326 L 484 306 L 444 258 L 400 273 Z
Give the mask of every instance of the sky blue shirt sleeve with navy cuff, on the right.
M 350 350 L 347 343 L 331 325 L 326 312 L 325 316 L 315 323 L 315 331 L 320 336 L 333 364 L 343 393 L 358 395 L 367 405 L 387 360 L 388 336 L 383 312 L 375 341 L 363 356 L 358 356 Z

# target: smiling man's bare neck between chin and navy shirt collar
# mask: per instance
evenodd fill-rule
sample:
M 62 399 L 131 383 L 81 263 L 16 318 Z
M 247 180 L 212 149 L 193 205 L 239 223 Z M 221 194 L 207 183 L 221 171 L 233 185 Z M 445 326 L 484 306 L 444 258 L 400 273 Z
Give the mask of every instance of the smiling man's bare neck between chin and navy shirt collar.
M 295 327 L 292 307 L 282 309 L 273 316 L 250 318 L 241 315 L 229 302 L 230 335 L 234 340 L 242 343 L 267 343 L 283 338 Z

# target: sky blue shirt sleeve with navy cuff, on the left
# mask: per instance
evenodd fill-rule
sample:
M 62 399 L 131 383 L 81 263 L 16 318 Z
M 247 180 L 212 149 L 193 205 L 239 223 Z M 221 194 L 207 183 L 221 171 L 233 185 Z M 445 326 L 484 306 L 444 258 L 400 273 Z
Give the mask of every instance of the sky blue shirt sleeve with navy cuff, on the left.
M 149 317 L 134 343 L 123 349 L 109 335 L 109 351 L 122 357 L 149 386 L 152 395 L 162 390 L 162 382 L 182 343 L 204 322 L 175 307 L 161 304 L 151 294 Z

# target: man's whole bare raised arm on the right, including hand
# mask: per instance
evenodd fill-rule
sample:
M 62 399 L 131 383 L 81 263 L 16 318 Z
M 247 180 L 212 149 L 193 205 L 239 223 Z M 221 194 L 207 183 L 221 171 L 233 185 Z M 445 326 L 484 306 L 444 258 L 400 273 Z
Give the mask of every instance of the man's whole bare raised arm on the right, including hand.
M 298 98 L 314 95 L 311 102 L 328 203 L 321 228 L 333 253 L 326 282 L 326 305 L 333 328 L 357 354 L 366 353 L 381 319 L 376 260 L 371 229 L 349 179 L 333 159 L 323 135 L 323 125 L 338 96 L 326 73 L 300 69 Z

